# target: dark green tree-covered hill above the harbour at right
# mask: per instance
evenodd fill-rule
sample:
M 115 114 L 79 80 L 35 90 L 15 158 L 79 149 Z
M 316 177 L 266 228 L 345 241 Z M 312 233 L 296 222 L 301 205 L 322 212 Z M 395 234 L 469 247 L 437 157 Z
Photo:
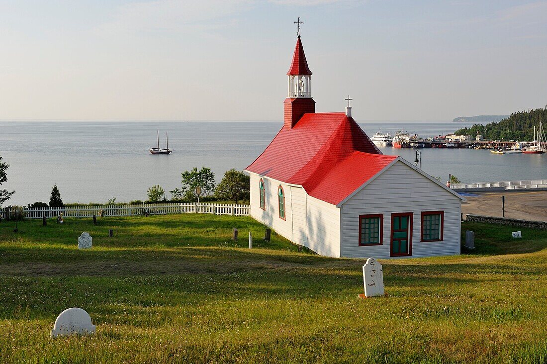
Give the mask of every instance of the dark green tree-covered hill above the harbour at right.
M 520 111 L 498 123 L 486 125 L 475 124 L 471 128 L 462 128 L 454 132 L 456 135 L 482 135 L 490 140 L 520 140 L 532 141 L 534 138 L 534 126 L 536 129 L 540 122 L 547 127 L 547 105 L 544 109 Z

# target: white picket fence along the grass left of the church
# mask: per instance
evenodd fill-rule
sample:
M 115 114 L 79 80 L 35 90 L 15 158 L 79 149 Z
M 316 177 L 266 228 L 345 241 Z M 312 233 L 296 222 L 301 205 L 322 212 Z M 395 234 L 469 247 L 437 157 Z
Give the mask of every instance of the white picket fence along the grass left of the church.
M 251 212 L 249 205 L 207 204 L 207 203 L 171 203 L 147 205 L 103 205 L 103 206 L 65 206 L 65 207 L 37 207 L 24 208 L 27 218 L 63 217 L 92 217 L 100 216 L 133 216 L 133 215 L 165 215 L 166 213 L 211 213 L 212 215 L 248 216 Z M 5 218 L 6 209 L 1 210 Z

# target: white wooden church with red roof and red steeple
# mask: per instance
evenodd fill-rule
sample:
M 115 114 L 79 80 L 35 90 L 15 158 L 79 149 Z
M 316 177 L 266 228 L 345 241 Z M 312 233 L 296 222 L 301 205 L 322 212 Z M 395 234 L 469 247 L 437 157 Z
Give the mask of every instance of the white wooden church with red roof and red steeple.
M 316 113 L 300 36 L 284 125 L 247 167 L 251 216 L 329 257 L 460 253 L 464 200 L 401 157 L 383 155 L 345 113 Z

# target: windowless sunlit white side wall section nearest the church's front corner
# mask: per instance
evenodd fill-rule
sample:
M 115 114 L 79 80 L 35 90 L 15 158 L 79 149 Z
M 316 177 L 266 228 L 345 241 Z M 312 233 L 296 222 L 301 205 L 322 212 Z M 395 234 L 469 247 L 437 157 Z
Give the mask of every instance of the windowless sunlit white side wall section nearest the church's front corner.
M 307 195 L 307 242 L 318 254 L 340 257 L 340 209 Z

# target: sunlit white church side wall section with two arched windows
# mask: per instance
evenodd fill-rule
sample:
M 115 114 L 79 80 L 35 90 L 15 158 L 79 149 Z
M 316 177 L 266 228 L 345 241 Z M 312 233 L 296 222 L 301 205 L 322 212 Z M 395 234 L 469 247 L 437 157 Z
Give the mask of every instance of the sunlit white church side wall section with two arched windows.
M 293 214 L 290 186 L 272 178 L 263 177 L 265 210 L 260 208 L 260 176 L 249 173 L 251 183 L 251 216 L 257 221 L 274 229 L 277 234 L 293 240 Z M 279 217 L 279 200 L 277 190 L 283 187 L 285 194 L 285 219 Z

